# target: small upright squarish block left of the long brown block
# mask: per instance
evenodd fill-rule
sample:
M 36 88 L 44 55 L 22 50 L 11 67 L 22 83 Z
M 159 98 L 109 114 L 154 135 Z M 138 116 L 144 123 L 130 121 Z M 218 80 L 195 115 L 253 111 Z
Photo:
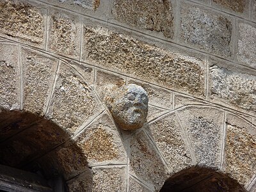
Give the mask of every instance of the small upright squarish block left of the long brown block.
M 62 10 L 50 10 L 49 40 L 50 51 L 79 59 L 81 24 L 77 15 Z

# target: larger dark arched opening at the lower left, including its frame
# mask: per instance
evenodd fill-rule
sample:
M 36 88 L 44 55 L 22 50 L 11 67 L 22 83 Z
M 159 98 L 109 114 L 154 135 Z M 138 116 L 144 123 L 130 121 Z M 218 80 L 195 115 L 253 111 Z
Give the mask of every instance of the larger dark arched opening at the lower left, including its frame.
M 88 170 L 70 135 L 42 116 L 0 113 L 0 191 L 68 191 L 66 181 Z

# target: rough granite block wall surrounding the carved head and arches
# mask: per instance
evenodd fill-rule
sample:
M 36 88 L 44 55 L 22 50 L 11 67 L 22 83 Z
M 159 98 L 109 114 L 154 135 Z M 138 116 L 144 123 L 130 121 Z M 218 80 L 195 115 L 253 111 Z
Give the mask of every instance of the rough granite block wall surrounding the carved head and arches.
M 255 190 L 256 1 L 0 0 L 0 52 L 1 108 L 45 116 L 88 158 L 70 191 L 157 191 L 196 164 Z M 103 100 L 127 83 L 149 97 L 134 132 Z

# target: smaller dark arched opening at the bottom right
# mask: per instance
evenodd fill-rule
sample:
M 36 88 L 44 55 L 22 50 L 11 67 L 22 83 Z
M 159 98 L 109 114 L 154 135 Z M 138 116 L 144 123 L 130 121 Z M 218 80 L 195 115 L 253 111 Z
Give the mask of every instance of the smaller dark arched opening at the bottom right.
M 228 175 L 210 168 L 191 167 L 175 173 L 164 182 L 160 192 L 245 192 Z

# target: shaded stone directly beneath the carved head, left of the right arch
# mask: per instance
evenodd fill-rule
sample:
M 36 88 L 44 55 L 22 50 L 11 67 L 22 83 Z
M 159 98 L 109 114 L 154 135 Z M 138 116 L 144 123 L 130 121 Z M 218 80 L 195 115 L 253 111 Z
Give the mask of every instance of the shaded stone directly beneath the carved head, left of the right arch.
M 163 186 L 167 168 L 144 132 L 132 136 L 130 173 L 157 191 Z M 154 173 L 154 174 L 152 174 Z

